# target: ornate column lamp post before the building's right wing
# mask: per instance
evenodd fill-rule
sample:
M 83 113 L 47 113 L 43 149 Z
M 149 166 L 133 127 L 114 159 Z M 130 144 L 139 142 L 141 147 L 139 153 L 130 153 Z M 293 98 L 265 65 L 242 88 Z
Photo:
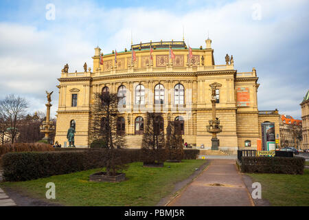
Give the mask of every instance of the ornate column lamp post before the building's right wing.
M 209 120 L 209 125 L 207 125 L 206 128 L 207 132 L 212 134 L 211 150 L 218 150 L 220 145 L 217 133 L 222 131 L 222 125 L 219 125 L 220 120 L 216 118 L 216 89 L 221 86 L 220 83 L 212 83 L 209 85 L 209 87 L 211 87 L 212 120 Z

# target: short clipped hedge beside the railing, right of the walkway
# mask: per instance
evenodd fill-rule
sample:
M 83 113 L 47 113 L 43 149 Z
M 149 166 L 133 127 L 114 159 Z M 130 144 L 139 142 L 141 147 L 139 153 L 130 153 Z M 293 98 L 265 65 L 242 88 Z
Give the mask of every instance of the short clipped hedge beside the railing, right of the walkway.
M 243 173 L 303 174 L 303 157 L 242 157 L 240 168 Z

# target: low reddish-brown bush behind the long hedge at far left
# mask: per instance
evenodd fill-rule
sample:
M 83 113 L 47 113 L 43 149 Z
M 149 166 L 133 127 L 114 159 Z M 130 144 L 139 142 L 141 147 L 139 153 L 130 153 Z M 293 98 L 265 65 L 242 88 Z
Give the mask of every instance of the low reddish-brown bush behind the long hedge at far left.
M 9 152 L 24 152 L 24 151 L 54 151 L 55 148 L 50 144 L 44 143 L 17 143 L 17 144 L 4 144 L 0 146 L 0 157 Z

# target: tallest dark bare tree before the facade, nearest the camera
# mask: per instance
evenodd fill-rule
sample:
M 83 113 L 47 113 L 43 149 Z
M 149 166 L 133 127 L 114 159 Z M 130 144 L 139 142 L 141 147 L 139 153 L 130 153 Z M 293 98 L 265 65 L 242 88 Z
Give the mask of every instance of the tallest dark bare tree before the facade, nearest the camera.
M 128 167 L 116 150 L 126 148 L 124 133 L 117 131 L 117 121 L 120 117 L 117 109 L 118 101 L 117 94 L 95 94 L 95 102 L 91 107 L 89 144 L 96 142 L 97 146 L 106 148 L 104 161 L 107 175 L 116 175 L 117 171 Z

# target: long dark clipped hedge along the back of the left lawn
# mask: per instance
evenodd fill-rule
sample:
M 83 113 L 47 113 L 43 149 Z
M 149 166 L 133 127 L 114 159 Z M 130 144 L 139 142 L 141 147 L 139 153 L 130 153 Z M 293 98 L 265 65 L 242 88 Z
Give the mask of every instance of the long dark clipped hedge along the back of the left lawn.
M 19 152 L 3 155 L 2 167 L 5 181 L 27 181 L 67 173 L 102 168 L 108 149 L 82 151 Z M 117 163 L 142 161 L 141 149 L 115 149 L 120 158 Z M 198 150 L 185 150 L 185 159 L 196 159 Z

